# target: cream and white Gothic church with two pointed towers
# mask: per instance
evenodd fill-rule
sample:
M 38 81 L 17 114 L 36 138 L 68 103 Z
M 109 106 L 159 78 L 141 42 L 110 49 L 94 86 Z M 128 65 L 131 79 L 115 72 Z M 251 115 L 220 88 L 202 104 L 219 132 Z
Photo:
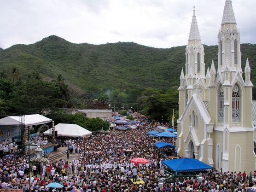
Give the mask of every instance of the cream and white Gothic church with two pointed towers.
M 180 75 L 178 154 L 222 171 L 250 173 L 256 169 L 253 85 L 248 59 L 243 78 L 240 33 L 231 0 L 225 2 L 218 47 L 217 64 L 212 61 L 205 74 L 204 46 L 194 11 L 186 67 Z

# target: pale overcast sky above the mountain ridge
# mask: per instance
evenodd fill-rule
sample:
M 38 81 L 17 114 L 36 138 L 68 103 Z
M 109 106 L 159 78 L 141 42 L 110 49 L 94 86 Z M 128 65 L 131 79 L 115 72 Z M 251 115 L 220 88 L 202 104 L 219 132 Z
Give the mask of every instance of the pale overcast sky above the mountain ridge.
M 195 6 L 201 41 L 217 44 L 225 0 L 0 0 L 0 47 L 49 35 L 73 43 L 186 45 Z M 256 0 L 233 0 L 241 43 L 256 43 Z

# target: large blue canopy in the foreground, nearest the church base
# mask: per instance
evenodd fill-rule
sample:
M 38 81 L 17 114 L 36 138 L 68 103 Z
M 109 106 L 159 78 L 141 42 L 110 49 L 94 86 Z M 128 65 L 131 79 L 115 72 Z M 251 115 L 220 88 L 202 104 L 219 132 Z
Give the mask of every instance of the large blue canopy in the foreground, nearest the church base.
M 206 163 L 192 158 L 180 158 L 162 161 L 169 169 L 177 172 L 192 172 L 213 169 Z

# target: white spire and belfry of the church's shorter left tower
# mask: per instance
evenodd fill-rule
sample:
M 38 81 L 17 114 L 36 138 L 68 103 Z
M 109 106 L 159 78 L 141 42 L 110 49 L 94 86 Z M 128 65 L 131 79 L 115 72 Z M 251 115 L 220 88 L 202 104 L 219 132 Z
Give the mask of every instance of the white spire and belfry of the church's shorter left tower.
M 191 75 L 193 79 L 199 77 L 205 78 L 204 47 L 201 44 L 195 6 L 193 9 L 188 44 L 186 46 L 186 77 L 188 77 L 188 75 Z

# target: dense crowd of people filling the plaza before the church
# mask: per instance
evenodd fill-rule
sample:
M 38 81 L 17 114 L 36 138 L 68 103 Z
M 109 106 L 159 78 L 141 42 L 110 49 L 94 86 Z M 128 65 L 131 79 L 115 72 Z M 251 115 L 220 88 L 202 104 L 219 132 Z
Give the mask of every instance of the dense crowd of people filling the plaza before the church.
M 69 147 L 70 153 L 78 153 L 79 158 L 63 157 L 58 161 L 32 165 L 30 181 L 27 155 L 5 151 L 0 158 L 0 187 L 23 189 L 24 192 L 29 189 L 32 192 L 66 192 L 79 187 L 84 192 L 171 192 L 174 187 L 178 192 L 245 192 L 246 187 L 253 186 L 250 175 L 245 172 L 214 171 L 204 172 L 202 182 L 195 178 L 179 178 L 175 186 L 174 181 L 169 180 L 160 188 L 159 178 L 168 177 L 160 175 L 166 151 L 157 149 L 154 143 L 172 143 L 172 138 L 159 140 L 148 137 L 147 132 L 157 123 L 140 121 L 145 124 L 138 129 L 63 140 L 62 145 Z M 131 163 L 135 157 L 146 158 L 149 163 Z M 138 178 L 143 182 L 134 183 Z M 48 188 L 47 184 L 51 182 L 59 182 L 64 187 Z

